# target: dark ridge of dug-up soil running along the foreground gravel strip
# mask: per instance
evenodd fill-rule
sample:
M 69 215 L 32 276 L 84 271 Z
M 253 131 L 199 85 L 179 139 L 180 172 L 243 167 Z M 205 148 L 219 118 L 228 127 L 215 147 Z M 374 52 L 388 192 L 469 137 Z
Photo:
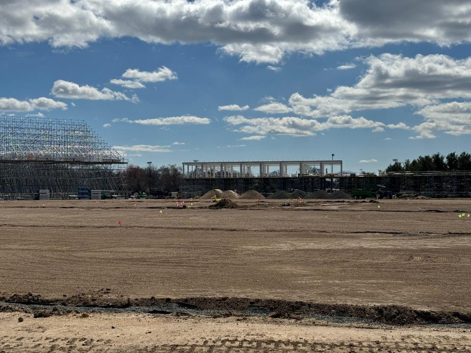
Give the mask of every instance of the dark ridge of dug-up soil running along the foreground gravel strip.
M 102 293 L 102 294 L 100 294 Z M 0 301 L 5 303 L 33 304 L 51 306 L 52 314 L 57 315 L 57 308 L 53 305 L 73 306 L 73 307 L 95 307 L 100 308 L 129 308 L 160 306 L 166 308 L 166 312 L 175 311 L 175 304 L 184 311 L 191 310 L 218 310 L 226 311 L 230 316 L 265 316 L 275 318 L 300 319 L 303 317 L 330 317 L 343 319 L 366 320 L 368 322 L 382 323 L 388 325 L 422 325 L 422 324 L 462 324 L 471 323 L 471 313 L 456 311 L 433 311 L 419 310 L 408 306 L 400 305 L 350 305 L 350 304 L 323 304 L 310 302 L 293 302 L 269 299 L 250 298 L 120 298 L 105 296 L 99 291 L 88 294 L 81 294 L 60 299 L 44 299 L 37 294 L 25 294 L 0 297 Z M 173 304 L 173 306 L 170 306 Z M 22 309 L 24 310 L 24 309 Z M 43 309 L 44 310 L 44 309 Z M 0 305 L 0 311 L 11 311 L 11 307 Z

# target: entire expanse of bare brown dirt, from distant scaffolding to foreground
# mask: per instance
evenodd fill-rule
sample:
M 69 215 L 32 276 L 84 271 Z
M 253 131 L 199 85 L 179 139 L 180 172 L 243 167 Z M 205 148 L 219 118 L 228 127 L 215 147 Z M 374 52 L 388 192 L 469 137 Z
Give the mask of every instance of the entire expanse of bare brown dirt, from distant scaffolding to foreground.
M 471 352 L 471 200 L 283 202 L 0 202 L 0 308 L 74 306 L 37 319 L 4 306 L 0 352 Z M 174 302 L 196 316 L 162 316 Z M 82 318 L 83 305 L 160 306 Z M 433 323 L 455 326 L 416 325 Z M 398 324 L 413 326 L 377 327 Z

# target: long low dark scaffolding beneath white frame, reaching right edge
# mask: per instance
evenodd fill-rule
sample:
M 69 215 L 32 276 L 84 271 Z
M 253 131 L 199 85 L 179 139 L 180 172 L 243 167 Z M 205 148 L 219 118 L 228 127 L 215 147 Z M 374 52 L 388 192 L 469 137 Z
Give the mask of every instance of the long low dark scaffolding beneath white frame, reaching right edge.
M 471 197 L 471 172 L 387 173 L 368 176 L 266 176 L 266 177 L 193 177 L 182 180 L 183 197 L 197 197 L 211 189 L 244 193 L 256 190 L 264 195 L 278 190 L 305 192 L 316 190 L 374 190 L 384 185 L 403 197 Z

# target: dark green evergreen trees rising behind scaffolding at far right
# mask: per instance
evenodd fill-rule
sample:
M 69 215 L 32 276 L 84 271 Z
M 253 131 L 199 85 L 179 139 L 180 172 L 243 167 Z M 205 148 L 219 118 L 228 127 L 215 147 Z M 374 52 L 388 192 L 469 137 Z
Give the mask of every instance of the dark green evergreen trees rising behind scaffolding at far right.
M 417 159 L 395 161 L 386 168 L 386 172 L 429 172 L 429 171 L 471 171 L 471 154 L 462 152 L 440 153 L 419 156 Z

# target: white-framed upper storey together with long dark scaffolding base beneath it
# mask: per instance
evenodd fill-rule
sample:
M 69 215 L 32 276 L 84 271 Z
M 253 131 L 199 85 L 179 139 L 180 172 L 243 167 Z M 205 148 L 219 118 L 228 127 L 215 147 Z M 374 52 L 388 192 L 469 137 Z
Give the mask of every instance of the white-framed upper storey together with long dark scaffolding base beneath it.
M 296 173 L 287 173 L 296 166 Z M 270 172 L 270 167 L 271 172 Z M 333 167 L 340 167 L 333 171 Z M 273 168 L 275 170 L 273 170 Z M 280 173 L 281 171 L 281 173 Z M 471 172 L 422 172 L 344 175 L 341 160 L 184 162 L 182 197 L 195 197 L 211 189 L 244 193 L 256 190 L 265 196 L 279 190 L 374 190 L 386 186 L 404 197 L 471 197 Z

